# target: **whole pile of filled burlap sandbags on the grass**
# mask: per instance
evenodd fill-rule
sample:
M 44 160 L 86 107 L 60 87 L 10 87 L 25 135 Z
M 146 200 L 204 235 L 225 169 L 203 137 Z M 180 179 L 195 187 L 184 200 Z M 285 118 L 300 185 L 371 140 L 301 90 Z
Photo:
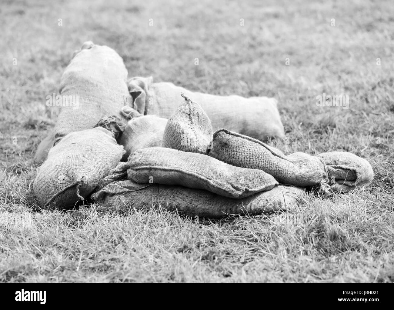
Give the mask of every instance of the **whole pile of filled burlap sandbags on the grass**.
M 138 77 L 128 94 L 126 75 L 115 51 L 92 43 L 67 67 L 61 93 L 78 94 L 79 107 L 65 108 L 43 142 L 55 146 L 33 184 L 41 206 L 92 198 L 191 216 L 256 215 L 293 210 L 306 188 L 348 192 L 372 182 L 371 165 L 353 154 L 285 156 L 264 144 L 283 136 L 273 98 L 193 93 Z

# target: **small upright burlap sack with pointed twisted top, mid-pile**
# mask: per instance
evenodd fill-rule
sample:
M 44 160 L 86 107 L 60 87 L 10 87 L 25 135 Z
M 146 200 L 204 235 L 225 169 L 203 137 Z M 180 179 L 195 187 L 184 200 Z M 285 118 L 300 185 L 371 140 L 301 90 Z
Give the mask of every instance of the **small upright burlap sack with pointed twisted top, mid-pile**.
M 162 146 L 206 154 L 213 138 L 211 121 L 199 104 L 181 96 L 184 101 L 168 119 Z

